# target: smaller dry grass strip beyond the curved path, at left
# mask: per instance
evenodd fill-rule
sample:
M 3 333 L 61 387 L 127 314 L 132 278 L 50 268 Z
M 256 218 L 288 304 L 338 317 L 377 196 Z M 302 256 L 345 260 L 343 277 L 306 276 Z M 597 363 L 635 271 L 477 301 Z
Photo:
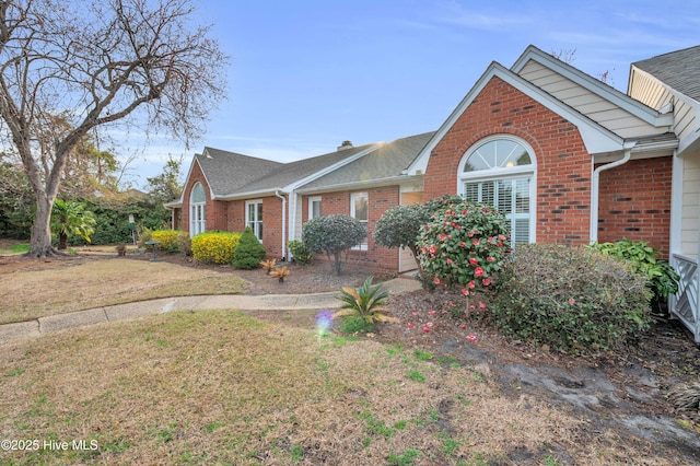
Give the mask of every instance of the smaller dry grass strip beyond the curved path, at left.
M 165 261 L 57 258 L 2 277 L 0 324 L 156 298 L 242 293 L 231 273 Z

